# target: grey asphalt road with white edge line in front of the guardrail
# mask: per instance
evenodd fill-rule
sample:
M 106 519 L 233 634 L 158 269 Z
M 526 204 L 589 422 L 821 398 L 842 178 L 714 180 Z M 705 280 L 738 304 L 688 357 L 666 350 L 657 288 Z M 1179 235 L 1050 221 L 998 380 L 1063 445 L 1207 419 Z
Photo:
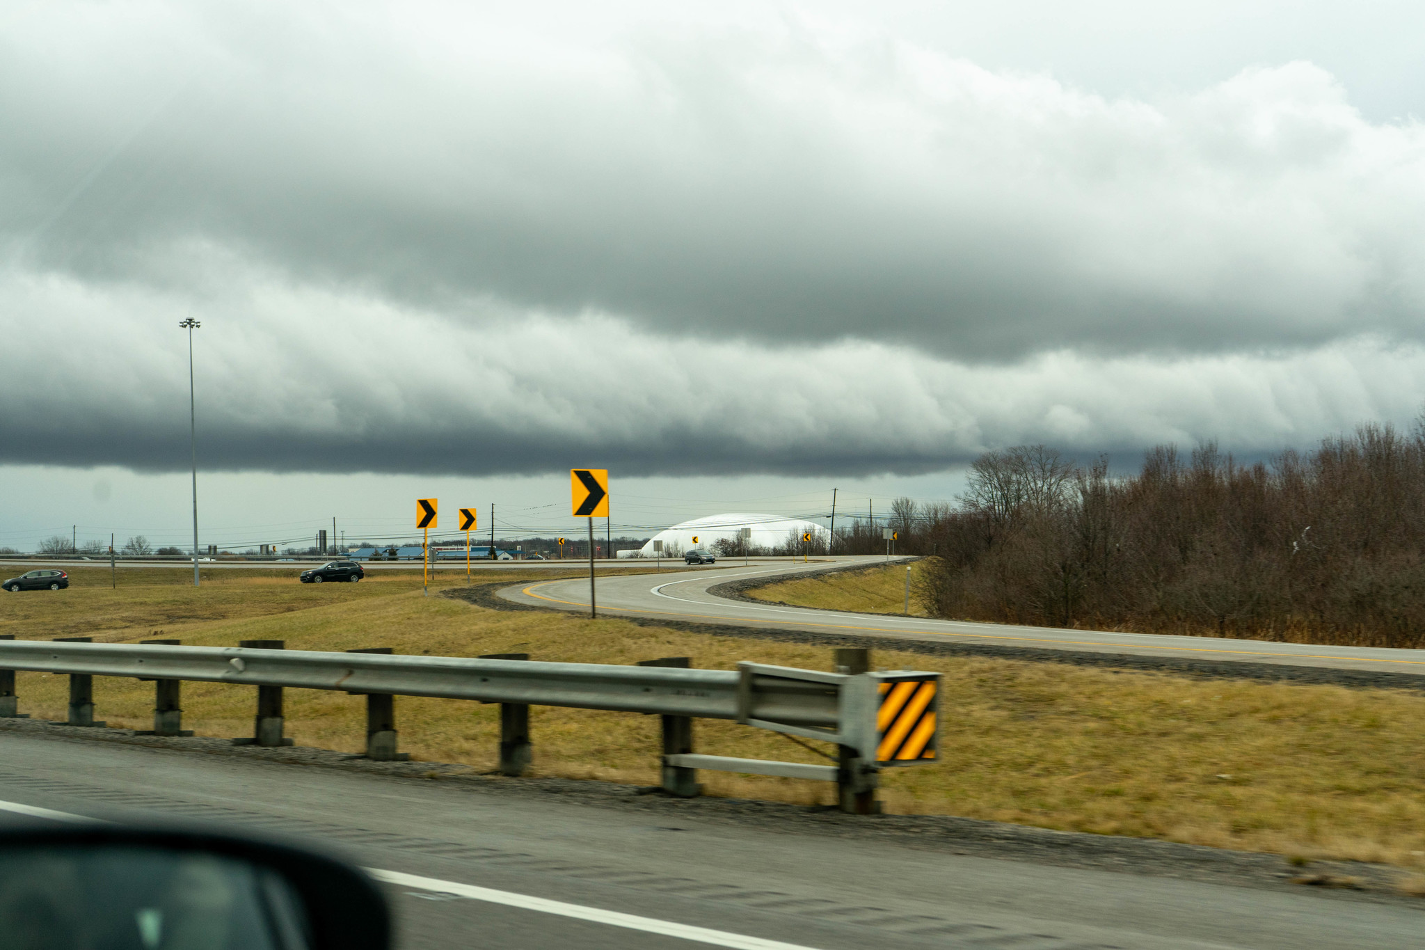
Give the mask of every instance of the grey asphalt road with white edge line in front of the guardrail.
M 383 873 L 408 950 L 1367 950 L 1425 931 L 1418 906 L 1344 892 L 956 855 L 913 836 L 732 822 L 698 802 L 564 798 L 0 732 L 0 829 L 161 816 L 299 836 Z

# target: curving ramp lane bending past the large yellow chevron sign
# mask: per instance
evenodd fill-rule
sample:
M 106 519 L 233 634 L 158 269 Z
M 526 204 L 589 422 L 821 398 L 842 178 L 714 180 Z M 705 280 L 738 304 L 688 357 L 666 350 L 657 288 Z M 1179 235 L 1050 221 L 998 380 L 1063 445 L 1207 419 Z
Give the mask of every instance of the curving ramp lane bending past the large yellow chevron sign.
M 865 564 L 865 558 L 829 558 L 841 564 Z M 879 558 L 875 558 L 879 560 Z M 754 564 L 701 570 L 691 575 L 641 574 L 607 577 L 598 581 L 598 610 L 630 617 L 667 618 L 701 624 L 797 630 L 822 634 L 854 634 L 871 638 L 962 642 L 1094 654 L 1253 662 L 1288 667 L 1320 667 L 1369 672 L 1425 675 L 1425 651 L 1372 647 L 1318 647 L 1258 640 L 1168 637 L 1090 630 L 1054 630 L 1009 624 L 976 624 L 926 620 L 895 614 L 854 614 L 805 610 L 718 597 L 710 588 L 731 580 L 775 574 L 819 571 L 826 563 Z M 569 611 L 589 610 L 589 580 L 567 578 L 507 587 L 500 597 L 527 605 Z

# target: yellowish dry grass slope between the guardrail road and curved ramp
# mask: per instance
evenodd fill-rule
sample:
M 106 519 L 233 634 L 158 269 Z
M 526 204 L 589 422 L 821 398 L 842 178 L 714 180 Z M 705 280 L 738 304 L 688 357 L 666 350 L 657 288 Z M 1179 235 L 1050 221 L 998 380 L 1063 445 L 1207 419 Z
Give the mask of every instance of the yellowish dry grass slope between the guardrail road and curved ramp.
M 97 570 L 73 575 L 74 587 L 58 594 L 0 595 L 0 634 L 137 641 L 161 631 L 185 644 L 274 638 L 306 649 L 523 651 L 616 664 L 690 655 L 707 668 L 760 659 L 825 669 L 831 659 L 819 647 L 422 597 L 419 573 L 305 587 L 291 575 L 215 571 L 195 590 L 181 571 L 133 571 L 117 591 Z M 875 661 L 946 674 L 942 762 L 885 772 L 891 812 L 1425 867 L 1425 696 L 889 651 Z M 151 684 L 101 678 L 94 688 L 100 718 L 151 728 Z M 20 674 L 19 695 L 24 712 L 64 716 L 63 677 Z M 185 725 L 201 735 L 248 735 L 252 706 L 251 688 L 184 685 Z M 288 734 L 302 745 L 362 748 L 359 696 L 289 689 L 286 714 Z M 418 759 L 489 769 L 497 715 L 496 706 L 402 698 L 402 748 Z M 656 781 L 654 716 L 536 708 L 532 726 L 536 775 Z M 704 752 L 817 761 L 735 724 L 698 722 L 697 741 Z M 821 783 L 710 772 L 703 779 L 715 795 L 831 800 Z

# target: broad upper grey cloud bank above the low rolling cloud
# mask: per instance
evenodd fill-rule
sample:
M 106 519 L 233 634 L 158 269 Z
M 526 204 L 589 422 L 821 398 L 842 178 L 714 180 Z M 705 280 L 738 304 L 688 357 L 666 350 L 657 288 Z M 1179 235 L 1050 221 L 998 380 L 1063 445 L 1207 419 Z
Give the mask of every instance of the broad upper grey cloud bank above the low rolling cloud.
M 0 239 L 34 266 L 182 282 L 202 238 L 422 306 L 958 359 L 1422 330 L 1425 131 L 1310 64 L 1109 101 L 875 36 L 128 10 L 7 31 Z

